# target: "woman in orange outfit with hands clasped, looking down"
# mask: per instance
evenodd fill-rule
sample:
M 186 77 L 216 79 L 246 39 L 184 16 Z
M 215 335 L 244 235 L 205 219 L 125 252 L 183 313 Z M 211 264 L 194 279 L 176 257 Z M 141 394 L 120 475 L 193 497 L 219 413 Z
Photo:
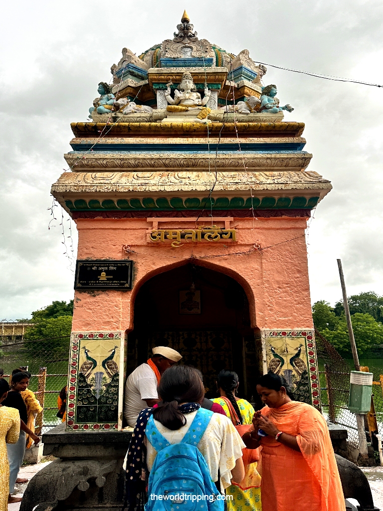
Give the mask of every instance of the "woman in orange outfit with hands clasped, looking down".
M 262 510 L 345 511 L 326 421 L 313 406 L 293 401 L 284 385 L 274 374 L 260 378 L 257 392 L 266 406 L 243 436 L 249 449 L 262 446 Z

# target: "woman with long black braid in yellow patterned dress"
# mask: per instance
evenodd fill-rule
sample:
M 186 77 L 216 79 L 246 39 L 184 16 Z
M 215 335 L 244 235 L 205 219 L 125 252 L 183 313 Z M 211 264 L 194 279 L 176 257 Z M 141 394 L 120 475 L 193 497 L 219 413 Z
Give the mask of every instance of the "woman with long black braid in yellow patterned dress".
M 217 380 L 217 387 L 221 397 L 212 399 L 212 401 L 223 407 L 229 419 L 233 419 L 232 413 L 230 413 L 231 408 L 235 410 L 238 419 L 243 425 L 252 424 L 255 413 L 254 408 L 246 399 L 239 399 L 235 396 L 239 384 L 238 375 L 234 371 L 223 369 L 218 375 Z M 226 495 L 232 495 L 233 498 L 233 500 L 227 500 L 228 511 L 245 511 L 247 509 L 261 511 L 260 476 L 257 472 L 257 462 L 248 465 L 246 483 L 246 490 L 241 488 L 241 483 L 232 484 L 226 489 Z

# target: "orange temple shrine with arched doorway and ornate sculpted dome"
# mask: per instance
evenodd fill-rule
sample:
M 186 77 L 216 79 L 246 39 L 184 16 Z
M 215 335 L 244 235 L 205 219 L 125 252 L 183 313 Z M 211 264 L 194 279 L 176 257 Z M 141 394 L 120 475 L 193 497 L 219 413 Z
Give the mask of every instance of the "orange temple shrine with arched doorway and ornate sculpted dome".
M 331 185 L 283 89 L 186 13 L 111 72 L 52 186 L 79 233 L 66 431 L 122 430 L 126 378 L 158 345 L 208 397 L 223 368 L 249 401 L 272 371 L 320 409 L 305 229 Z

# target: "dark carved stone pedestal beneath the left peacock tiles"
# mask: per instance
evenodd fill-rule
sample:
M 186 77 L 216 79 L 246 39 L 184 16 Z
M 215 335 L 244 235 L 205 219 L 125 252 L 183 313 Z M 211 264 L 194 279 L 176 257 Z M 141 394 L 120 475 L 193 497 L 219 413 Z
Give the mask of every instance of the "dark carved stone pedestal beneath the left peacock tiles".
M 64 427 L 60 424 L 43 435 L 44 455 L 58 459 L 31 479 L 20 511 L 120 510 L 125 497 L 123 463 L 132 433 Z

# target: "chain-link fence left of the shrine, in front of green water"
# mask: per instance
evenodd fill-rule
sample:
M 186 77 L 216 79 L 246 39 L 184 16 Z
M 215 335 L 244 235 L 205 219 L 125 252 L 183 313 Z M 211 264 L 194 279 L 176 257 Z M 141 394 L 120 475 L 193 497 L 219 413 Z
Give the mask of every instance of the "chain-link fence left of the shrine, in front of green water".
M 36 434 L 45 433 L 61 423 L 57 417 L 57 398 L 68 381 L 69 338 L 55 337 L 18 341 L 0 346 L 0 367 L 9 379 L 12 370 L 27 368 L 32 374 L 29 389 L 43 407 L 35 420 Z

